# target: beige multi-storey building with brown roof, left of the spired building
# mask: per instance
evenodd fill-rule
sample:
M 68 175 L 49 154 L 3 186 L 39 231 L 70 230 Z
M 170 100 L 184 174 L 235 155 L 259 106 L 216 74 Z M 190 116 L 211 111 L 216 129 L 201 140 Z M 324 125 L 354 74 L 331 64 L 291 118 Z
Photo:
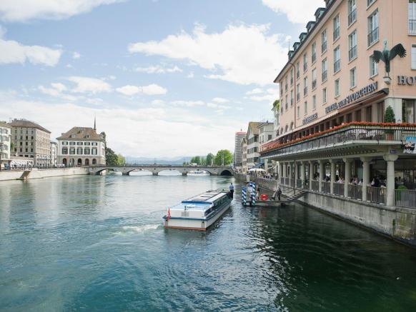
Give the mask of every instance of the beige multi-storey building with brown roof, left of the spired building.
M 10 123 L 14 150 L 11 153 L 19 158 L 31 158 L 34 166 L 51 165 L 51 131 L 26 119 L 14 119 Z

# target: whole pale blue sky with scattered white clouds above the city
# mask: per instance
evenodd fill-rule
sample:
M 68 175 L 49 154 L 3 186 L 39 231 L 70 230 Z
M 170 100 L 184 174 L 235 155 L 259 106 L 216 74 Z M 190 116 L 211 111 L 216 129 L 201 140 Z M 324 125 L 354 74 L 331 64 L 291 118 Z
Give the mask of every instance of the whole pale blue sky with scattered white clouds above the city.
M 0 120 L 105 131 L 124 156 L 234 149 L 323 0 L 1 0 Z M 302 9 L 300 9 L 302 8 Z

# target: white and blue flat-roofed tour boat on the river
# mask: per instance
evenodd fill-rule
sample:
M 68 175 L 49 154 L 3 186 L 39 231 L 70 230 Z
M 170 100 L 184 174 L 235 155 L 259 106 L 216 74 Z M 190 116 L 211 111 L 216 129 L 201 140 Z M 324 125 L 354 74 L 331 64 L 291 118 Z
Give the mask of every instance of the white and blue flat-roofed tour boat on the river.
M 164 228 L 206 231 L 227 211 L 232 198 L 227 191 L 207 191 L 167 209 Z

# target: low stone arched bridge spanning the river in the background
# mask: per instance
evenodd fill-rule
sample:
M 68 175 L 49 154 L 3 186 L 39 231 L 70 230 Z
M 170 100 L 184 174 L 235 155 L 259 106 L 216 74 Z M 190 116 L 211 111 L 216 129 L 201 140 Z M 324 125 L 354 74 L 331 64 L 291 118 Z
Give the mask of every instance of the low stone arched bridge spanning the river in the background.
M 132 171 L 149 171 L 154 176 L 161 171 L 179 171 L 186 176 L 189 171 L 207 171 L 212 176 L 234 176 L 234 169 L 229 166 L 170 166 L 170 165 L 126 165 L 126 166 L 89 166 L 90 174 L 99 174 L 102 171 L 116 171 L 128 176 Z

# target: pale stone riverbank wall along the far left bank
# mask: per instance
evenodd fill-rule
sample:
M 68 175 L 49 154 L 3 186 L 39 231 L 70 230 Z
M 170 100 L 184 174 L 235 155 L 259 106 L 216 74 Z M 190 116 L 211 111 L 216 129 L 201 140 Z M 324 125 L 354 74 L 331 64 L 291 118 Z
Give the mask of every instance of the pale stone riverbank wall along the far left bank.
M 33 168 L 30 171 L 0 171 L 0 181 L 19 180 L 22 178 L 31 180 L 34 178 L 51 178 L 54 176 L 81 176 L 86 174 L 89 174 L 88 168 L 52 168 L 39 170 Z

